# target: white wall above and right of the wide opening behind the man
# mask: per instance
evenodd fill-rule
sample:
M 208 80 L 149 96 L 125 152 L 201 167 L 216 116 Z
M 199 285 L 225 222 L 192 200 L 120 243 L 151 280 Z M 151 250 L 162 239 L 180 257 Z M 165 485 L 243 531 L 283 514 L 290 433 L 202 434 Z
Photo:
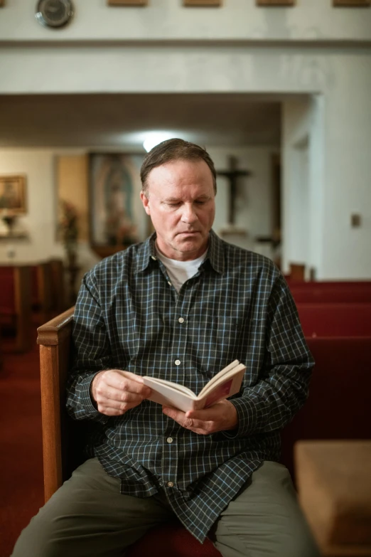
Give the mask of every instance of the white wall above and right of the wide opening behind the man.
M 0 13 L 0 94 L 315 95 L 310 262 L 318 278 L 371 277 L 371 53 L 362 42 L 370 42 L 371 9 L 333 9 L 323 0 L 291 9 L 258 9 L 251 0 L 226 0 L 220 9 L 173 0 L 114 9 L 80 0 L 75 21 L 60 31 L 38 26 L 28 0 Z M 350 228 L 353 211 L 360 228 Z

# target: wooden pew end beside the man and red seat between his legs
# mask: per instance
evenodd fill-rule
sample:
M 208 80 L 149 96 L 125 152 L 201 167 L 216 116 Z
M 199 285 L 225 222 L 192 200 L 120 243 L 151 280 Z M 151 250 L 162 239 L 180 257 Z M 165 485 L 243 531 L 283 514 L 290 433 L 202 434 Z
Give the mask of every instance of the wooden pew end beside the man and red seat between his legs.
M 41 411 L 45 502 L 70 477 L 84 456 L 86 425 L 65 410 L 65 383 L 70 366 L 73 307 L 38 327 L 41 365 Z M 221 557 L 207 539 L 199 543 L 181 524 L 151 529 L 126 553 L 127 557 Z

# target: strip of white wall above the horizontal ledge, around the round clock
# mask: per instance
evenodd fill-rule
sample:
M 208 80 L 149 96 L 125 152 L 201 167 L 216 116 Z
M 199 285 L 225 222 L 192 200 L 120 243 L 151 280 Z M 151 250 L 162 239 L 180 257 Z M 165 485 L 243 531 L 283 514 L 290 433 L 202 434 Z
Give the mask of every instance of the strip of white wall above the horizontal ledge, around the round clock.
M 73 0 L 75 18 L 63 31 L 35 20 L 36 1 L 9 0 L 1 9 L 6 41 L 326 40 L 367 41 L 371 11 L 333 9 L 331 0 L 300 0 L 295 8 L 262 8 L 254 0 L 223 0 L 221 8 L 185 8 L 182 0 L 149 0 L 146 8 Z

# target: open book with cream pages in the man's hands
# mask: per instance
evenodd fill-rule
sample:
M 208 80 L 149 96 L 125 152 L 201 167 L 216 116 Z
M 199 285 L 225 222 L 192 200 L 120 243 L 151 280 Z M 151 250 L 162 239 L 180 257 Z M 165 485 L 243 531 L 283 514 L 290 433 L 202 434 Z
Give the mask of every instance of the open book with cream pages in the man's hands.
M 156 377 L 144 376 L 144 385 L 151 387 L 149 400 L 166 406 L 174 406 L 183 412 L 208 408 L 222 398 L 228 398 L 240 391 L 246 366 L 238 360 L 232 361 L 219 371 L 198 396 L 189 388 Z

